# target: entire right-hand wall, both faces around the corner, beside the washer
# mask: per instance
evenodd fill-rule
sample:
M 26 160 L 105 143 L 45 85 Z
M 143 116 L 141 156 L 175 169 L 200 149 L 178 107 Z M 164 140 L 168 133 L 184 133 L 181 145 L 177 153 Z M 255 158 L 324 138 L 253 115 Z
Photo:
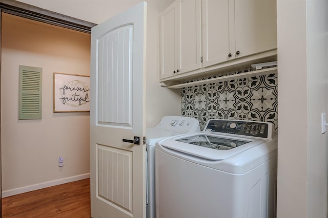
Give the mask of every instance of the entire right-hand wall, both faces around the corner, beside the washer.
M 277 1 L 277 217 L 327 217 L 326 14 L 326 1 Z

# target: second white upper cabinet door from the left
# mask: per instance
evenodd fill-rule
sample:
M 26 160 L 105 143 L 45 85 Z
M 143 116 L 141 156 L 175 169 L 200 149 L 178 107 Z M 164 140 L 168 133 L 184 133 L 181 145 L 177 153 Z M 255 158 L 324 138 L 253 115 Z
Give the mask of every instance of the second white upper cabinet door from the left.
M 178 4 L 178 73 L 201 68 L 200 0 L 177 0 Z

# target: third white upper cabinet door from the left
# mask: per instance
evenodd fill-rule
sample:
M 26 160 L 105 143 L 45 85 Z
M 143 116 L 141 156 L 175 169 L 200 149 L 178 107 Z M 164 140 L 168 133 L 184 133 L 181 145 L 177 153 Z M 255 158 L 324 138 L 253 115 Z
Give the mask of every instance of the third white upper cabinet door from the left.
M 234 0 L 202 0 L 203 67 L 235 57 L 234 19 Z

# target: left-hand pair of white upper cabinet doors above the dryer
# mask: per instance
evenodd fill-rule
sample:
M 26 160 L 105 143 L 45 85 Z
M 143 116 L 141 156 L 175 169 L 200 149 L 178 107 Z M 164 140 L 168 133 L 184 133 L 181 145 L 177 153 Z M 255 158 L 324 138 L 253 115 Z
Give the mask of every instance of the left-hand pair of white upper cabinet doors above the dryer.
M 161 75 L 201 68 L 200 0 L 177 0 L 161 17 Z

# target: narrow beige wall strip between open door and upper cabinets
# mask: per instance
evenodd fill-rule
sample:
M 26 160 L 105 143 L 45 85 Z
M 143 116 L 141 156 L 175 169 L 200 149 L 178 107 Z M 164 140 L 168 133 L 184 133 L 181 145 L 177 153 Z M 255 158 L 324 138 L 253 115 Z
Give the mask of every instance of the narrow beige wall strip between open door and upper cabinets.
M 155 126 L 162 116 L 181 115 L 181 90 L 159 84 L 159 13 L 173 0 L 147 1 L 146 127 Z

